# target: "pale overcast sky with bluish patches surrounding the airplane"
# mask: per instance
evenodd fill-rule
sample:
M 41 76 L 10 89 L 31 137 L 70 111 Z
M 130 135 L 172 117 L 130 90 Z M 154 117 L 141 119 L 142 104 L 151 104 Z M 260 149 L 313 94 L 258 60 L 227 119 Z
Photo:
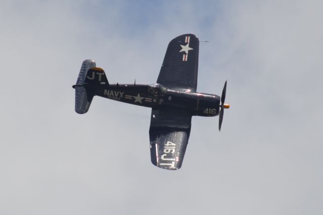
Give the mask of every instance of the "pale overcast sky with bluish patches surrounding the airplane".
M 0 1 L 0 214 L 322 214 L 322 1 Z M 183 166 L 150 162 L 150 109 L 95 97 L 74 111 L 85 59 L 150 84 L 193 33 L 199 92 Z

